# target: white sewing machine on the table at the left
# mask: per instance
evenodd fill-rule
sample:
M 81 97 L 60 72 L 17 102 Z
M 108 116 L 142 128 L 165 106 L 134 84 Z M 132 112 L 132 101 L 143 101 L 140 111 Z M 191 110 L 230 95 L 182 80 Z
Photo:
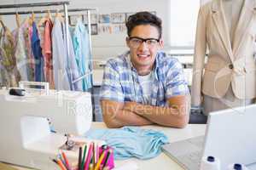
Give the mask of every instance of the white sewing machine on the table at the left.
M 20 87 L 24 88 L 24 84 Z M 51 158 L 55 158 L 59 147 L 66 142 L 64 133 L 82 135 L 90 128 L 89 93 L 49 89 L 42 92 L 14 96 L 9 95 L 9 90 L 0 90 L 0 161 L 54 169 L 56 165 Z M 57 133 L 50 132 L 49 122 Z M 70 152 L 67 156 L 78 155 Z

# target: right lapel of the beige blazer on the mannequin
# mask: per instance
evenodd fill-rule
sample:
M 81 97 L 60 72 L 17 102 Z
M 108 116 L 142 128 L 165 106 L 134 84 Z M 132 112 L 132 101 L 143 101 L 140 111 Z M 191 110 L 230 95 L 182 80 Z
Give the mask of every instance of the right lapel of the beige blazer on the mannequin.
M 256 14 L 256 0 L 245 0 L 232 43 L 233 54 L 235 56 L 238 49 L 241 47 L 241 43 L 244 41 L 247 30 L 253 25 L 254 14 Z

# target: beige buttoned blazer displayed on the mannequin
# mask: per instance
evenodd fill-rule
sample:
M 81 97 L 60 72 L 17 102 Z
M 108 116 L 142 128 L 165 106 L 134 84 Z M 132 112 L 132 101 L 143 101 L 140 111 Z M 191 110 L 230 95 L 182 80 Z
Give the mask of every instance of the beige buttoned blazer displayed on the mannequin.
M 222 98 L 228 88 L 238 99 L 256 97 L 256 0 L 244 0 L 233 42 L 222 0 L 200 8 L 195 38 L 192 105 L 201 105 L 201 93 Z M 208 48 L 207 64 L 204 64 Z

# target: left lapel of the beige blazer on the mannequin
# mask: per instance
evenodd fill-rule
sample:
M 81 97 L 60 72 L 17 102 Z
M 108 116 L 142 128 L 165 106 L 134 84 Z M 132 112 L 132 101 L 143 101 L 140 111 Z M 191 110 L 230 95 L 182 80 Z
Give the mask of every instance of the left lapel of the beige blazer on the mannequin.
M 213 0 L 212 1 L 212 19 L 215 26 L 218 29 L 219 37 L 221 38 L 224 48 L 227 53 L 230 55 L 230 59 L 233 60 L 231 42 L 230 42 L 230 33 L 227 26 L 227 22 L 224 16 L 224 10 L 222 7 L 222 0 Z

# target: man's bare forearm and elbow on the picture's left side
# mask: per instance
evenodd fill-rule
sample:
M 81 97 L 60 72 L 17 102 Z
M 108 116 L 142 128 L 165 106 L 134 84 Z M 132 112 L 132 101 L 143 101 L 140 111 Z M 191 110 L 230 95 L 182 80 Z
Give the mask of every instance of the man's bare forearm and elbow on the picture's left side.
M 143 126 L 153 122 L 132 111 L 125 111 L 125 104 L 108 99 L 101 100 L 102 116 L 108 127 L 116 128 L 123 126 Z

